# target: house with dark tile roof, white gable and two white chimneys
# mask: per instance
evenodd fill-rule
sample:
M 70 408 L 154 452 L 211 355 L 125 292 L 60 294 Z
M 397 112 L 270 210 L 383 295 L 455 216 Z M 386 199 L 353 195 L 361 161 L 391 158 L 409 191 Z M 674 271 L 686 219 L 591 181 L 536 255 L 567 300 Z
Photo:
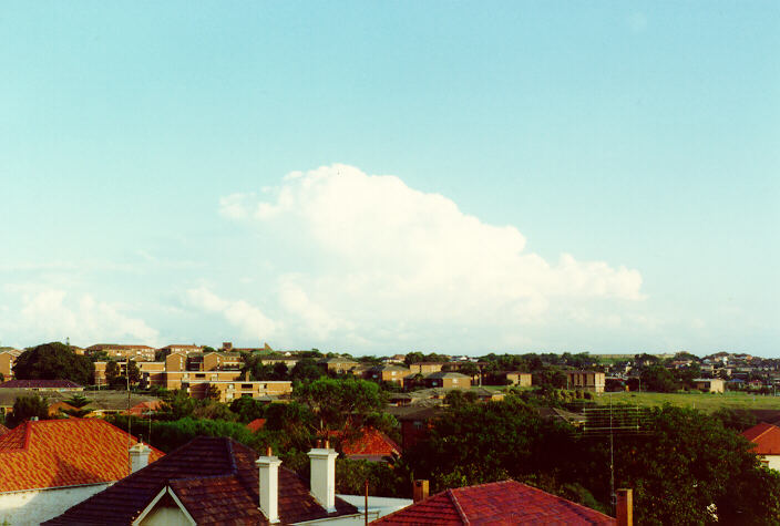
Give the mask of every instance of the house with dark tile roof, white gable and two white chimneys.
M 232 439 L 198 436 L 45 524 L 363 524 L 336 495 L 336 451 L 308 456 L 310 483 L 270 451 L 258 458 Z

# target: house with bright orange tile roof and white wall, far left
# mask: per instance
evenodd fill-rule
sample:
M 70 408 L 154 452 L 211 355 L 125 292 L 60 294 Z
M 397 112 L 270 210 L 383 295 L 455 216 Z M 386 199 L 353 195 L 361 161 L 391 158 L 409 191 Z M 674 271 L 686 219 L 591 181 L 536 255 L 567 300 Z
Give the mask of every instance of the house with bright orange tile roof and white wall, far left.
M 136 442 L 102 420 L 17 425 L 0 436 L 0 524 L 39 524 L 124 478 Z

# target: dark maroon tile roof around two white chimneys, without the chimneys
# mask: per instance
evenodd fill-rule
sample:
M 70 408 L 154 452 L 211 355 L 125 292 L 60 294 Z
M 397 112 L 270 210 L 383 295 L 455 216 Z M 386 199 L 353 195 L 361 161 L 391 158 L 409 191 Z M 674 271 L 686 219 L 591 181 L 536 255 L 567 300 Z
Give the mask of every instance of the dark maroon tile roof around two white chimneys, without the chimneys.
M 131 524 L 166 486 L 198 524 L 268 524 L 258 496 L 258 454 L 232 439 L 198 436 L 45 524 Z M 298 523 L 356 514 L 336 498 L 328 514 L 296 473 L 279 470 L 279 517 Z

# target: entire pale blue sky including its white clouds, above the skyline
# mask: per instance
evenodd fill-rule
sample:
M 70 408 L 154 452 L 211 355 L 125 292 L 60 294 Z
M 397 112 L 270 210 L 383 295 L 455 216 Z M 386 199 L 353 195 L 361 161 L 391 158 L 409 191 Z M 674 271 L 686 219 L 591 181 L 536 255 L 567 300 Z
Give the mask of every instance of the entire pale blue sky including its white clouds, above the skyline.
M 777 2 L 4 2 L 0 344 L 780 355 L 778 49 Z

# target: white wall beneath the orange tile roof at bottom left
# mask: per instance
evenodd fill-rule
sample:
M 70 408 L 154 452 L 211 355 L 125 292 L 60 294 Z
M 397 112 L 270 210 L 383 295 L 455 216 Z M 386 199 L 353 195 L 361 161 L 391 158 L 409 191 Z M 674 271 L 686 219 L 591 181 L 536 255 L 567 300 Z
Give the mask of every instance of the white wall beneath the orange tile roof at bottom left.
M 71 486 L 59 489 L 35 489 L 0 494 L 0 524 L 8 522 L 12 526 L 40 524 L 63 514 L 102 492 L 111 484 L 92 484 Z

